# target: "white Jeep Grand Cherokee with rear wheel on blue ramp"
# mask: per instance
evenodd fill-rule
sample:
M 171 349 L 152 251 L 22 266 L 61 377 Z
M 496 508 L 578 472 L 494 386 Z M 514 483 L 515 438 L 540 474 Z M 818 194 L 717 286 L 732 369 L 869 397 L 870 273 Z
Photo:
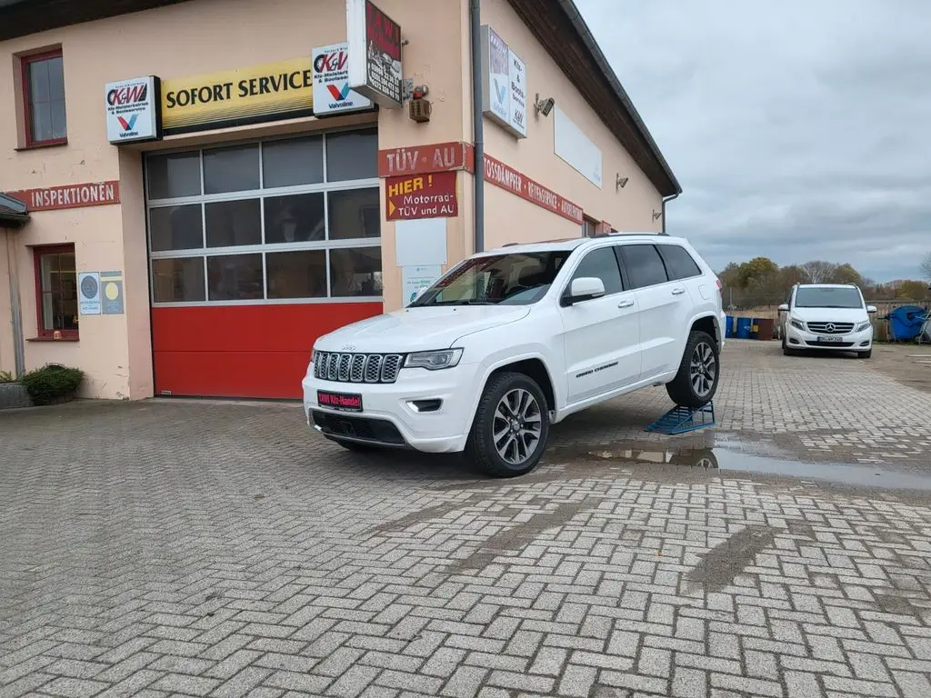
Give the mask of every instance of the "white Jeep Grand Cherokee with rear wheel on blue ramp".
M 348 449 L 466 451 L 533 470 L 549 425 L 648 385 L 701 407 L 721 375 L 721 283 L 685 240 L 600 235 L 457 264 L 407 308 L 320 337 L 307 423 Z

